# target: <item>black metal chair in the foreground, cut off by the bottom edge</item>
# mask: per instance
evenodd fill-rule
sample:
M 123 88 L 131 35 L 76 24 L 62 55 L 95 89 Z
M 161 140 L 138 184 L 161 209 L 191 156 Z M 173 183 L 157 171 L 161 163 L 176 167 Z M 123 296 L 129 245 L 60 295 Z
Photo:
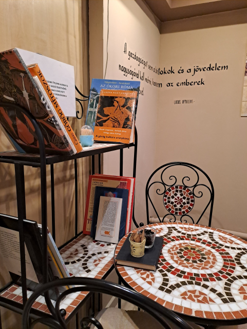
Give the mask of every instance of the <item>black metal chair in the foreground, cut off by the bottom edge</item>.
M 29 312 L 35 300 L 41 294 L 44 294 L 45 291 L 48 291 L 51 288 L 68 286 L 68 285 L 74 285 L 75 287 L 64 291 L 64 293 L 62 293 L 59 296 L 58 300 L 56 301 L 55 307 L 52 308 L 49 307 L 51 316 L 44 315 L 44 317 L 37 318 L 31 323 L 31 319 L 29 318 Z M 31 329 L 34 327 L 36 323 L 43 323 L 55 329 L 66 329 L 67 326 L 64 320 L 66 311 L 64 309 L 60 310 L 60 302 L 65 296 L 79 291 L 93 291 L 94 293 L 97 292 L 97 293 L 107 294 L 117 298 L 121 298 L 127 302 L 130 302 L 145 311 L 145 313 L 141 311 L 135 311 L 135 312 L 137 312 L 140 316 L 143 315 L 147 316 L 147 314 L 150 315 L 155 320 L 150 316 L 149 318 L 151 318 L 151 320 L 153 320 L 156 323 L 158 322 L 161 328 L 193 329 L 191 325 L 189 325 L 187 322 L 185 322 L 183 319 L 181 319 L 177 314 L 175 314 L 171 310 L 163 307 L 162 305 L 158 304 L 154 300 L 151 300 L 150 298 L 137 293 L 134 290 L 104 280 L 91 279 L 91 278 L 75 278 L 75 277 L 67 278 L 67 279 L 59 279 L 53 282 L 49 282 L 42 285 L 39 289 L 35 290 L 34 293 L 29 297 L 23 311 L 23 320 L 22 320 L 23 329 Z M 113 308 L 113 309 L 121 311 L 120 309 L 117 308 Z M 121 319 L 122 314 L 120 314 L 120 318 L 118 319 L 120 323 L 123 323 L 123 321 L 125 320 L 124 314 Z M 81 320 L 81 328 L 82 329 L 88 328 L 88 325 L 91 323 L 94 325 L 94 327 L 98 329 L 103 329 L 100 320 L 101 318 L 97 320 L 97 317 L 96 318 L 90 316 L 85 317 Z M 108 316 L 107 321 L 112 321 L 112 318 Z M 172 326 L 168 323 L 172 323 Z M 133 326 L 133 328 L 136 327 Z M 107 329 L 106 322 L 104 323 L 104 329 Z

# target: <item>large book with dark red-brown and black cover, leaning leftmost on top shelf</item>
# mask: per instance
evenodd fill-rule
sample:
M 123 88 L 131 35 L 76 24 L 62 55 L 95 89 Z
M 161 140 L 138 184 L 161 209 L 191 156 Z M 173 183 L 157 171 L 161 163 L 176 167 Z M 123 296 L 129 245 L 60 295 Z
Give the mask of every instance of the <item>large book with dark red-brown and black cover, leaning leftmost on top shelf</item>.
M 0 101 L 30 111 L 40 125 L 47 154 L 72 155 L 69 140 L 37 87 L 17 48 L 0 53 Z M 27 63 L 31 64 L 31 63 Z M 8 105 L 0 107 L 0 123 L 15 150 L 39 153 L 39 141 L 30 120 Z

